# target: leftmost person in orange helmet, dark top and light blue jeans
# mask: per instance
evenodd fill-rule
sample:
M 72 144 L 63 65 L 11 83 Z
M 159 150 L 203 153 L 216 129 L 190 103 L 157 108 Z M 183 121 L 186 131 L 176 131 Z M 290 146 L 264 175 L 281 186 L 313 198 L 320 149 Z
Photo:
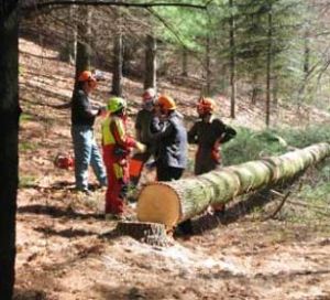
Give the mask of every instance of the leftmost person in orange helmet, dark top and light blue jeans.
M 72 98 L 72 137 L 75 152 L 76 189 L 85 193 L 88 190 L 88 167 L 92 170 L 101 186 L 107 185 L 107 174 L 102 157 L 94 135 L 94 124 L 102 108 L 94 107 L 90 94 L 97 87 L 97 79 L 91 72 L 84 71 L 78 76 Z

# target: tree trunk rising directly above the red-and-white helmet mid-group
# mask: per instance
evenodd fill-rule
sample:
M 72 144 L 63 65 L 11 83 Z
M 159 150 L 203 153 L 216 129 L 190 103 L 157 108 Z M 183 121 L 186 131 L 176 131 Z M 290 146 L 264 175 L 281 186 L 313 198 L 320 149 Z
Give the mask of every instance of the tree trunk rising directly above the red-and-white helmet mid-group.
M 144 71 L 144 89 L 148 87 L 156 88 L 156 39 L 147 35 L 145 41 L 145 71 Z

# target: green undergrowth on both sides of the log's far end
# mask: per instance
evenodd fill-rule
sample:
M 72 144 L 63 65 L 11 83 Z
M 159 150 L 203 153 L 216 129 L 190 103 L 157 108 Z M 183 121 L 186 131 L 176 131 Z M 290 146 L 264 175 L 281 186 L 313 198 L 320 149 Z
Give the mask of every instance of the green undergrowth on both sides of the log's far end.
M 330 142 L 330 125 L 302 129 L 275 128 L 257 132 L 239 128 L 237 137 L 222 148 L 223 162 L 224 165 L 239 164 L 264 157 L 280 156 L 318 142 Z M 299 188 L 294 188 L 290 199 L 300 204 L 286 204 L 280 214 L 285 219 L 300 223 L 329 218 L 330 159 L 309 168 L 300 178 Z

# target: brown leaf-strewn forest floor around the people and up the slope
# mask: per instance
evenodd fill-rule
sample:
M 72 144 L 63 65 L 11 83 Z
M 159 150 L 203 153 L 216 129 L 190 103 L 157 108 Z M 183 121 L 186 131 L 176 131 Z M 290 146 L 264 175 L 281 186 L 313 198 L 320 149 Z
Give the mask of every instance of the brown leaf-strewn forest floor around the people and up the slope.
M 70 111 L 59 107 L 70 99 L 74 66 L 59 62 L 56 51 L 26 40 L 20 41 L 20 51 L 24 115 L 15 299 L 330 299 L 329 222 L 262 222 L 253 213 L 238 215 L 208 222 L 207 228 L 164 248 L 108 235 L 117 223 L 102 218 L 105 191 L 76 193 L 73 171 L 53 164 L 57 153 L 72 151 Z M 107 75 L 97 100 L 106 101 L 110 82 Z M 195 115 L 198 89 L 160 86 L 178 99 L 187 119 Z M 125 79 L 124 90 L 133 117 L 142 85 Z M 219 100 L 220 114 L 228 116 L 229 99 Z M 262 128 L 262 105 L 251 107 L 241 99 L 233 124 Z M 289 126 L 329 121 L 329 115 L 314 108 L 298 114 L 280 106 L 273 116 Z

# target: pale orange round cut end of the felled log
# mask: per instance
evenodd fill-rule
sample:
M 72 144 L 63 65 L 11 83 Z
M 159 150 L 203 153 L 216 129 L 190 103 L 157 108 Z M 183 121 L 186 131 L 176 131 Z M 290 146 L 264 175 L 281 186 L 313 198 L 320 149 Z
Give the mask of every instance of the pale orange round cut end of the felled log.
M 140 222 L 161 223 L 173 228 L 182 215 L 178 194 L 168 185 L 156 183 L 146 185 L 138 201 Z

